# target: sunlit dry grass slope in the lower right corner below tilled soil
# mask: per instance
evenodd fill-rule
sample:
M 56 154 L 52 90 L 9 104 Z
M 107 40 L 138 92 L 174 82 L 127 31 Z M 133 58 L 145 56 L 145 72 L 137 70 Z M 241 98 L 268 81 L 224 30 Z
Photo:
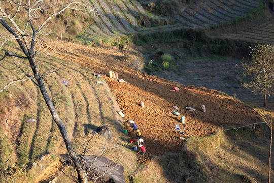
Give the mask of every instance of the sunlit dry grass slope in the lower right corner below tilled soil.
M 190 140 L 187 146 L 197 155 L 208 181 L 238 182 L 248 175 L 256 182 L 266 182 L 269 133 L 266 126 L 258 134 L 243 128 Z

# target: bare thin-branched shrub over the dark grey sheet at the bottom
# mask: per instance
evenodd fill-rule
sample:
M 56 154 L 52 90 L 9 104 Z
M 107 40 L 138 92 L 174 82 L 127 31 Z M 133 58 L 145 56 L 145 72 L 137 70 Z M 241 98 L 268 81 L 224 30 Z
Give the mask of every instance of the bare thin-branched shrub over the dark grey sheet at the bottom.
M 81 161 L 84 162 L 88 179 L 93 180 L 94 182 L 106 182 L 112 178 L 116 182 L 125 182 L 125 177 L 123 175 L 124 168 L 121 166 L 121 164 L 125 161 L 128 161 L 130 156 L 127 157 L 124 162 L 121 162 L 121 159 L 124 155 L 121 154 L 119 149 L 123 147 L 123 144 L 113 144 L 109 142 L 100 144 L 100 147 L 96 150 L 97 152 L 95 153 L 93 148 L 95 143 L 92 143 L 93 137 L 93 134 L 87 134 L 81 141 L 74 141 L 73 143 L 74 148 L 81 152 Z M 97 144 L 96 146 L 98 147 Z M 112 158 L 112 160 L 106 158 L 109 153 L 114 153 L 114 158 Z M 71 162 L 71 159 L 66 159 L 63 161 L 64 164 L 69 162 Z M 73 182 L 78 182 L 77 175 L 72 169 L 58 169 Z

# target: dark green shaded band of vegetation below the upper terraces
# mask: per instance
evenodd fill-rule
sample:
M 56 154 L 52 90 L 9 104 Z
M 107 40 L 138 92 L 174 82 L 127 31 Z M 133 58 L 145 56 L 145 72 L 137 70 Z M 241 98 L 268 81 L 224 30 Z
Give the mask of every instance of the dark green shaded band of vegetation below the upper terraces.
M 181 43 L 185 45 L 192 55 L 230 55 L 243 57 L 250 52 L 253 43 L 231 39 L 213 39 L 204 31 L 195 29 L 182 29 L 180 31 L 152 33 L 133 37 L 133 43 L 145 46 L 147 44 Z

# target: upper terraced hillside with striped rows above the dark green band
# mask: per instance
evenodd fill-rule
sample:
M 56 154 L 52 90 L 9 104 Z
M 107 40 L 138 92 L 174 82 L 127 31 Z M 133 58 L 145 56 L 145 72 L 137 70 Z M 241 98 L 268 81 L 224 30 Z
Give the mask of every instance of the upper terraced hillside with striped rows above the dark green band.
M 177 2 L 177 1 L 174 1 Z M 241 20 L 256 17 L 264 12 L 262 0 L 225 0 L 195 1 L 190 4 L 173 3 L 155 5 L 153 1 L 136 0 L 95 0 L 92 1 L 97 12 L 91 14 L 90 26 L 78 39 L 91 43 L 119 35 L 149 34 L 169 32 L 182 28 L 217 28 Z M 152 5 L 153 4 L 153 5 Z M 143 5 L 143 6 L 142 6 Z M 153 9 L 167 12 L 156 15 Z M 168 10 L 180 6 L 180 11 L 173 15 Z

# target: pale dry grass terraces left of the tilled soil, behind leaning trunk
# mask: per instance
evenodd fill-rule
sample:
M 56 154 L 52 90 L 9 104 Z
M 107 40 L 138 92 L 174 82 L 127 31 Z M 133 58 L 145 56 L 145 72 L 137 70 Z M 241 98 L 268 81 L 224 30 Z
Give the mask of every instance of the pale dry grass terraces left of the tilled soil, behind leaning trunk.
M 8 49 L 11 48 L 8 47 Z M 116 112 L 119 110 L 116 99 L 107 85 L 96 84 L 96 81 L 103 80 L 96 78 L 92 70 L 81 68 L 67 60 L 58 60 L 46 55 L 42 55 L 42 60 L 42 70 L 50 67 L 58 68 L 64 64 L 57 72 L 45 78 L 45 84 L 68 134 L 74 138 L 73 142 L 78 152 L 81 153 L 83 150 L 81 145 L 90 138 L 90 131 L 102 125 L 110 125 L 114 141 L 108 143 L 105 138 L 97 135 L 92 139 L 89 146 L 92 149 L 88 153 L 97 155 L 106 148 L 104 155 L 121 163 L 125 167 L 125 175 L 135 171 L 136 156 L 133 153 L 133 147 L 127 142 L 127 135 L 122 134 L 122 118 Z M 18 74 L 16 68 L 9 63 L 10 61 L 9 58 L 5 58 L 1 64 L 0 73 L 5 78 L 1 80 L 1 84 L 8 81 L 9 75 L 13 77 L 12 79 L 20 77 L 20 73 Z M 26 67 L 24 63 L 21 65 Z M 68 80 L 70 84 L 67 87 L 64 86 L 61 79 Z M 7 91 L 0 94 L 0 103 L 3 129 L 1 145 L 4 144 L 5 149 L 12 149 L 10 154 L 0 150 L 1 162 L 6 162 L 10 155 L 12 157 L 7 165 L 1 166 L 1 169 L 7 171 L 8 166 L 22 167 L 22 169 L 16 168 L 14 173 L 10 172 L 12 176 L 2 173 L 1 176 L 3 175 L 7 182 L 26 182 L 26 179 L 28 182 L 34 182 L 36 180 L 33 177 L 37 177 L 36 175 L 42 172 L 44 175 L 38 177 L 39 180 L 50 178 L 52 175 L 46 169 L 49 165 L 43 161 L 40 162 L 40 158 L 48 154 L 50 156 L 54 154 L 57 157 L 59 154 L 65 154 L 66 150 L 40 91 L 30 81 L 16 83 L 8 86 Z M 27 118 L 35 118 L 37 121 L 26 122 Z M 4 131 L 6 131 L 5 134 Z M 8 146 L 9 148 L 6 148 Z M 32 162 L 40 162 L 41 166 L 45 166 L 43 171 L 40 167 L 31 168 Z M 31 169 L 28 171 L 29 168 Z

